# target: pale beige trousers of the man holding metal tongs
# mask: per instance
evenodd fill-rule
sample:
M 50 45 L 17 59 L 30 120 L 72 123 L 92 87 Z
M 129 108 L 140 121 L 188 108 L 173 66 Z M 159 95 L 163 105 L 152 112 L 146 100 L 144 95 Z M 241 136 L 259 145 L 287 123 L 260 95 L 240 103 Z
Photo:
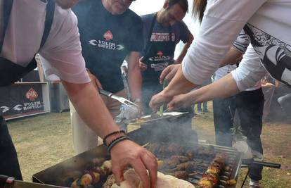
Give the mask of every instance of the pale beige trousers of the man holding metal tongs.
M 116 93 L 117 96 L 126 96 L 125 90 Z M 110 99 L 107 96 L 102 96 L 104 104 L 110 111 L 112 118 L 115 118 L 120 113 L 120 103 L 115 99 Z M 86 123 L 79 117 L 79 114 L 75 110 L 75 107 L 70 101 L 70 115 L 71 115 L 71 126 L 72 126 L 72 141 L 74 145 L 75 154 L 83 153 L 93 147 L 98 146 L 98 136 L 93 130 L 89 128 Z M 101 143 L 100 143 L 101 142 Z M 102 139 L 100 139 L 102 144 Z

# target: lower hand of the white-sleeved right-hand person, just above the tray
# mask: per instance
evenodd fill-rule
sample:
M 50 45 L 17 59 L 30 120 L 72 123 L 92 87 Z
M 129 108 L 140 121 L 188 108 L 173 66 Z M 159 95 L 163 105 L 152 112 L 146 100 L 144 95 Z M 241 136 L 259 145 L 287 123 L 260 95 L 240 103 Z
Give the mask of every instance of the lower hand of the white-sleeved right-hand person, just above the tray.
M 167 105 L 167 109 L 169 111 L 173 111 L 174 109 L 186 108 L 193 104 L 189 94 L 179 94 L 173 97 L 172 101 Z

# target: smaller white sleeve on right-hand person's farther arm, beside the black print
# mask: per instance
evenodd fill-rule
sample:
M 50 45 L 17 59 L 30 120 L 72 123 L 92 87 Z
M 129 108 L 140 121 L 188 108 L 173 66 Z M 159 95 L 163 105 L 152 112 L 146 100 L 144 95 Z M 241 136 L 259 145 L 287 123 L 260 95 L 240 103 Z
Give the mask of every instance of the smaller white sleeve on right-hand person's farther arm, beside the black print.
M 256 51 L 250 45 L 247 48 L 243 56 L 243 60 L 240 62 L 240 66 L 231 71 L 233 79 L 238 85 L 240 92 L 245 91 L 250 87 L 254 87 L 255 84 L 266 75 L 266 69 L 261 64 L 259 56 Z

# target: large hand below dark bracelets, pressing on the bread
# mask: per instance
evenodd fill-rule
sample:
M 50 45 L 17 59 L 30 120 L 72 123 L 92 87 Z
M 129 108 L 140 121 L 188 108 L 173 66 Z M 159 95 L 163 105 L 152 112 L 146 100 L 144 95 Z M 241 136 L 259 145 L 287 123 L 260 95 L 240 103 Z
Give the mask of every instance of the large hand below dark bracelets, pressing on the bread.
M 117 184 L 124 180 L 123 172 L 131 165 L 143 182 L 143 188 L 155 188 L 157 183 L 157 159 L 138 144 L 124 140 L 111 150 L 112 172 Z M 148 173 L 147 171 L 148 170 Z

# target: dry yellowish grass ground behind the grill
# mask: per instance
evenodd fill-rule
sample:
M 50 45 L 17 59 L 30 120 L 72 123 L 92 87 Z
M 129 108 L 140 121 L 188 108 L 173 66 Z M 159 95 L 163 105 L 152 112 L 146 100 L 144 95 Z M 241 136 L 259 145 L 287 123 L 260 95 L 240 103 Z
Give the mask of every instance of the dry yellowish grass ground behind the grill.
M 211 110 L 211 104 L 209 104 Z M 22 176 L 32 181 L 32 175 L 52 165 L 74 156 L 70 113 L 48 113 L 30 118 L 8 121 Z M 134 130 L 136 127 L 129 127 Z M 213 113 L 205 113 L 193 118 L 193 128 L 199 139 L 209 143 L 215 141 Z M 284 123 L 264 123 L 261 139 L 265 161 L 291 165 L 291 125 Z M 243 181 L 246 169 L 240 172 L 238 185 Z M 291 170 L 264 168 L 264 187 L 291 187 Z M 240 186 L 239 186 L 240 187 Z

